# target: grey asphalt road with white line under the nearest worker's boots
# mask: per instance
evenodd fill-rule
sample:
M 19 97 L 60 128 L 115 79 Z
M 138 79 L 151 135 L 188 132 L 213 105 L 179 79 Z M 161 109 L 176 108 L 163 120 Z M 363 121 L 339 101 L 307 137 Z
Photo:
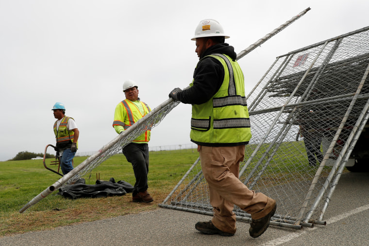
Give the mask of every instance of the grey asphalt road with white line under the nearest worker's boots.
M 259 238 L 249 236 L 250 224 L 237 221 L 232 237 L 204 235 L 197 221 L 211 217 L 158 208 L 54 230 L 0 238 L 0 246 L 115 245 L 357 245 L 369 246 L 369 173 L 342 175 L 324 220 L 326 226 L 302 230 L 270 226 Z

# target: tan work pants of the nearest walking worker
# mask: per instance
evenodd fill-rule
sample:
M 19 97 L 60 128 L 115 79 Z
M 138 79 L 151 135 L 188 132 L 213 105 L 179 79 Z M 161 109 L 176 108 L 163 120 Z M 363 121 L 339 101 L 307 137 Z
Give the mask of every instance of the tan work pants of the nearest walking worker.
M 209 185 L 212 223 L 219 230 L 235 233 L 234 204 L 250 213 L 252 219 L 266 216 L 272 209 L 271 198 L 255 193 L 238 179 L 239 163 L 245 156 L 245 146 L 199 147 L 201 169 Z M 268 201 L 269 200 L 269 201 Z

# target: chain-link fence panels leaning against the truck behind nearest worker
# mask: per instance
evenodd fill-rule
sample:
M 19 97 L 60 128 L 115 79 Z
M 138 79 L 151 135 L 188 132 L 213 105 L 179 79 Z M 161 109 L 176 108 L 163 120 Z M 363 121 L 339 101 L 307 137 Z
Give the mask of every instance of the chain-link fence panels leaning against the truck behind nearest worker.
M 359 138 L 368 119 L 368 30 L 277 57 L 247 98 L 252 138 L 239 179 L 277 200 L 275 225 L 319 223 L 349 157 L 369 158 Z M 212 214 L 201 166 L 159 206 Z

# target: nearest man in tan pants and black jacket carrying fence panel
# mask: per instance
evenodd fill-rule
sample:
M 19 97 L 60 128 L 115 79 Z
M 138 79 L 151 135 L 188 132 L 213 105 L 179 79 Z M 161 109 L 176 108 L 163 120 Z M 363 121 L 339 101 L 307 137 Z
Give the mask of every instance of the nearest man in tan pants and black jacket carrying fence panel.
M 173 89 L 169 97 L 192 104 L 191 141 L 198 145 L 201 169 L 209 185 L 213 218 L 195 228 L 205 234 L 233 236 L 236 232 L 234 205 L 250 213 L 250 236 L 267 230 L 276 202 L 249 190 L 238 179 L 239 163 L 251 139 L 244 76 L 229 38 L 214 19 L 201 20 L 195 40 L 200 61 L 186 90 Z

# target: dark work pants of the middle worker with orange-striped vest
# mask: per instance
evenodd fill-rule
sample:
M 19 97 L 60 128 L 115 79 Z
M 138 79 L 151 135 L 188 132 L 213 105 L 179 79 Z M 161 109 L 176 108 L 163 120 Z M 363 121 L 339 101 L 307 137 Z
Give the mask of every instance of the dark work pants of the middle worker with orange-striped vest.
M 130 143 L 123 148 L 123 154 L 133 167 L 136 182 L 134 183 L 132 195 L 135 196 L 138 192 L 144 192 L 148 188 L 149 145 Z

